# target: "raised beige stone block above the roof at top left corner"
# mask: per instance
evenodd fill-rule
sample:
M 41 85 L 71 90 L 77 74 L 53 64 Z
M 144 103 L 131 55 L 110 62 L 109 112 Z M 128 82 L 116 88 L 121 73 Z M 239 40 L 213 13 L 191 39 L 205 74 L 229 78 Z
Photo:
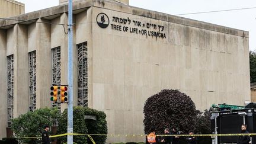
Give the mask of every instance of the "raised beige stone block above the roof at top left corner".
M 13 0 L 0 0 L 0 18 L 24 14 L 25 5 Z

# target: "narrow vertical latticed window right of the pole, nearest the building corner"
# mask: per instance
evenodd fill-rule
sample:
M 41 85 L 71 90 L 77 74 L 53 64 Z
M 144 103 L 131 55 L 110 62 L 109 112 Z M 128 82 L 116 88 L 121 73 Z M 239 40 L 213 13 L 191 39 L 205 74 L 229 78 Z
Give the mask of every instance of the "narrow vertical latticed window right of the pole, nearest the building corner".
M 78 105 L 88 107 L 88 60 L 87 42 L 77 44 L 78 48 Z

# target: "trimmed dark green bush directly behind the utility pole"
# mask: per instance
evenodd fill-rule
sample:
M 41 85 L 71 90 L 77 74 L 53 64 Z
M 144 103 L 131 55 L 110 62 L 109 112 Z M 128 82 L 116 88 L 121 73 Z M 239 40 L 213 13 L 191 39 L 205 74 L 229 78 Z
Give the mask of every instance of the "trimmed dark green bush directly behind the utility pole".
M 65 110 L 60 117 L 58 133 L 66 133 L 68 111 Z M 97 120 L 84 119 L 84 116 L 96 116 Z M 107 121 L 105 113 L 88 107 L 73 108 L 73 133 L 83 134 L 107 134 Z M 95 143 L 105 143 L 106 136 L 92 136 Z M 66 137 L 60 137 L 61 142 L 66 142 Z M 73 141 L 76 143 L 91 143 L 87 136 L 73 136 Z

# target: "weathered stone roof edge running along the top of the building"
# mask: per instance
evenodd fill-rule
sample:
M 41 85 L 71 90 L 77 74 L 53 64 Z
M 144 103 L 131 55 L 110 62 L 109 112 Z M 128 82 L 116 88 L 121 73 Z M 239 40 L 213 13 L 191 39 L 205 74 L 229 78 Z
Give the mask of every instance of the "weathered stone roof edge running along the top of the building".
M 113 7 L 114 5 L 116 7 Z M 73 14 L 77 14 L 85 9 L 88 9 L 89 7 L 104 8 L 104 9 L 109 9 L 109 10 L 114 10 L 119 12 L 125 12 L 127 14 L 137 15 L 141 17 L 167 21 L 175 24 L 182 24 L 190 27 L 202 28 L 205 30 L 217 31 L 220 33 L 232 34 L 235 36 L 241 36 L 241 37 L 247 37 L 247 38 L 249 37 L 248 31 L 224 27 L 221 25 L 206 23 L 203 21 L 191 20 L 189 18 L 183 18 L 175 15 L 164 14 L 162 12 L 150 11 L 148 9 L 132 7 L 130 5 L 121 4 L 115 1 L 84 0 L 84 1 L 73 2 Z M 122 11 L 120 11 L 120 8 L 122 9 Z M 58 5 L 56 7 L 41 9 L 39 11 L 17 15 L 15 17 L 11 17 L 6 20 L 0 20 L 0 28 L 8 29 L 9 27 L 12 27 L 12 25 L 17 23 L 22 23 L 22 24 L 34 23 L 34 21 L 39 18 L 46 18 L 48 20 L 52 20 L 53 18 L 58 17 L 63 12 L 68 12 L 68 4 Z

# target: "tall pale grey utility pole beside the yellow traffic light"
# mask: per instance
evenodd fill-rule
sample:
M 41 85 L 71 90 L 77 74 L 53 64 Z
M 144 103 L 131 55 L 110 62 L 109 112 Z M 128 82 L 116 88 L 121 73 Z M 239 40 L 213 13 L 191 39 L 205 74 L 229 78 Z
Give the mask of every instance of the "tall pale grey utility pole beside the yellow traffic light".
M 73 9 L 72 0 L 68 5 L 68 134 L 73 133 Z M 73 144 L 73 135 L 68 135 L 68 144 Z

